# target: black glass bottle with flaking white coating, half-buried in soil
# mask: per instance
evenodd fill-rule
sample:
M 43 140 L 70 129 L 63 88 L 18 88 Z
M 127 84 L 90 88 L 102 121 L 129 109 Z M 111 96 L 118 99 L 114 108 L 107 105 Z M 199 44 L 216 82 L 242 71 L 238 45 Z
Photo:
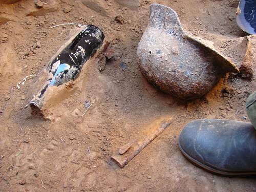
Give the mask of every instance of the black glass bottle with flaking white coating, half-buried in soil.
M 76 32 L 50 59 L 47 69 L 48 80 L 31 100 L 30 105 L 40 110 L 50 87 L 75 80 L 84 63 L 94 56 L 103 40 L 104 34 L 93 25 L 87 25 Z

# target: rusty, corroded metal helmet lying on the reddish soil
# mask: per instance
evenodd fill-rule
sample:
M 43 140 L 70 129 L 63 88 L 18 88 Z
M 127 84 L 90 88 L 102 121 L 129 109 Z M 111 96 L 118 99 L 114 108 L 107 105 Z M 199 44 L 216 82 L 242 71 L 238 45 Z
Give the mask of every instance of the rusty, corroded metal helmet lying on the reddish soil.
M 173 9 L 152 4 L 137 49 L 139 69 L 165 93 L 182 99 L 199 98 L 224 73 L 239 72 L 209 42 L 187 34 Z

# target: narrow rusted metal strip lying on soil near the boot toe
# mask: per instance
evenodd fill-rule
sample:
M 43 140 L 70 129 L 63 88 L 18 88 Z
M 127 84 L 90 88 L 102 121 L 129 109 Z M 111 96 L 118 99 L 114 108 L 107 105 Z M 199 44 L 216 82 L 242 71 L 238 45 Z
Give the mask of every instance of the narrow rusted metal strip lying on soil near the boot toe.
M 170 125 L 171 120 L 172 118 L 166 117 L 155 120 L 143 133 L 140 134 L 138 139 L 120 147 L 118 152 L 112 155 L 111 158 L 115 160 L 120 167 L 124 167 L 138 155 L 143 148 L 157 138 Z

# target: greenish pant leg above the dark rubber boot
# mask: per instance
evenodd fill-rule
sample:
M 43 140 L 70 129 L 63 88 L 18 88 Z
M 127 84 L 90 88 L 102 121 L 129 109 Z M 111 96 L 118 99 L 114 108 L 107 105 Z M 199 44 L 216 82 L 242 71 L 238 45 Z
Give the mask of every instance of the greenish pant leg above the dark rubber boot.
M 256 129 L 256 91 L 254 91 L 246 100 L 247 115 Z

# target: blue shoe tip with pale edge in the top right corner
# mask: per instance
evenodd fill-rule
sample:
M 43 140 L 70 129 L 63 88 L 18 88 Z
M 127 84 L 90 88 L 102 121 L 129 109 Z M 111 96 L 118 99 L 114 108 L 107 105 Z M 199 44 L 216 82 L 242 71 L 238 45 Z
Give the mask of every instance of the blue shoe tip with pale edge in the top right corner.
M 256 33 L 256 1 L 241 0 L 237 9 L 237 24 L 249 34 Z

